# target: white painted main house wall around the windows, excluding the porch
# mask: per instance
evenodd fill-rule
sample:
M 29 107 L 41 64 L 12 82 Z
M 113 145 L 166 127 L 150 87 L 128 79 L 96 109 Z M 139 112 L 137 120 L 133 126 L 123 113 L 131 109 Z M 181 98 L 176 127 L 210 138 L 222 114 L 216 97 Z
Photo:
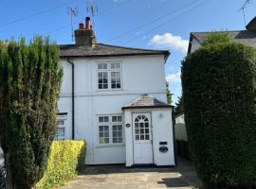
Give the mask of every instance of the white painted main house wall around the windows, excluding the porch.
M 97 61 L 121 61 L 122 89 L 98 90 Z M 73 59 L 75 64 L 75 138 L 87 142 L 88 164 L 125 163 L 125 145 L 100 146 L 97 115 L 123 113 L 121 107 L 140 94 L 151 94 L 167 102 L 164 56 Z M 64 81 L 58 104 L 59 112 L 67 112 L 66 139 L 71 139 L 71 65 L 61 60 Z

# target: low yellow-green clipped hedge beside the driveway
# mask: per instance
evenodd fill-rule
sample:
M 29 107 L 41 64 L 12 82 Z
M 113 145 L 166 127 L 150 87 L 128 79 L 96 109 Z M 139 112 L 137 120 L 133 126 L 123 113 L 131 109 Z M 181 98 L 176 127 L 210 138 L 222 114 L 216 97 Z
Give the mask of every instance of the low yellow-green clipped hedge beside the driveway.
M 36 184 L 36 189 L 50 189 L 76 177 L 82 171 L 85 149 L 85 141 L 54 141 L 45 176 Z

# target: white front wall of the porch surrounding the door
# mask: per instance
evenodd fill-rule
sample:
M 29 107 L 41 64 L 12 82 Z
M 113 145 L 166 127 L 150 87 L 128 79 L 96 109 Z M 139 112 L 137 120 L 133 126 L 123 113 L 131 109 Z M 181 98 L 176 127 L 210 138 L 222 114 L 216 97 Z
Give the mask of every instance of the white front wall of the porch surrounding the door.
M 150 112 L 152 117 L 153 133 L 153 156 L 156 165 L 174 165 L 174 136 L 172 109 L 137 109 L 125 111 L 125 124 L 130 124 L 130 128 L 125 127 L 125 153 L 126 166 L 134 164 L 134 146 L 133 146 L 133 119 L 132 113 Z M 168 152 L 159 151 L 160 142 L 167 142 Z

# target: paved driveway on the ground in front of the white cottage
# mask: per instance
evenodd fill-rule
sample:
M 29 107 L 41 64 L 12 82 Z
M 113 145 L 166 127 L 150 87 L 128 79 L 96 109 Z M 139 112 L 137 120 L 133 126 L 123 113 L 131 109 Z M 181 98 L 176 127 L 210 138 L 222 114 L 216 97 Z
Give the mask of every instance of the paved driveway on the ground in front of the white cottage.
M 192 165 L 187 162 L 176 168 L 98 165 L 87 166 L 83 175 L 60 189 L 191 189 L 198 183 Z

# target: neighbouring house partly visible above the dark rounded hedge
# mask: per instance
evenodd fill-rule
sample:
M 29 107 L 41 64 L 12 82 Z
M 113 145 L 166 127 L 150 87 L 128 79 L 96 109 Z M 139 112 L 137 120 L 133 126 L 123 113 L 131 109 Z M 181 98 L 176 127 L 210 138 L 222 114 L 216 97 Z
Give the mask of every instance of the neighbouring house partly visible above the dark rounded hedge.
M 238 43 L 245 43 L 247 45 L 256 47 L 256 17 L 254 17 L 246 26 L 246 30 L 236 30 L 236 31 L 223 31 L 228 32 L 229 36 Z M 220 32 L 220 31 L 216 31 Z M 209 36 L 214 31 L 210 32 L 192 32 L 190 37 L 190 44 L 188 54 L 194 52 L 203 43 L 207 36 Z

